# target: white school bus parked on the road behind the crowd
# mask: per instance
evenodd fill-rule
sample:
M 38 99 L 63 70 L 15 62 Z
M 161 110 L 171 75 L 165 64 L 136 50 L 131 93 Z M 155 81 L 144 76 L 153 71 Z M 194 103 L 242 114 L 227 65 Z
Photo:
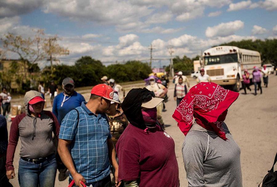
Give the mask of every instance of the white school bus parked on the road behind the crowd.
M 203 65 L 212 82 L 221 86 L 232 85 L 238 92 L 243 70 L 247 69 L 252 78 L 253 67 L 261 67 L 261 56 L 258 51 L 217 46 L 203 52 Z

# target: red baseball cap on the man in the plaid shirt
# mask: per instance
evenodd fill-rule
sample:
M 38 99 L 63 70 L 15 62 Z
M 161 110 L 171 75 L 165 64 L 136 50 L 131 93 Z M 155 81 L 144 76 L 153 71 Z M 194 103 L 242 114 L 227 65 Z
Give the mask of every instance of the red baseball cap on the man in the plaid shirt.
M 112 87 L 106 84 L 98 84 L 91 89 L 90 94 L 98 95 L 104 97 L 107 100 L 113 101 L 115 103 L 119 103 L 115 101 L 114 98 L 114 90 Z

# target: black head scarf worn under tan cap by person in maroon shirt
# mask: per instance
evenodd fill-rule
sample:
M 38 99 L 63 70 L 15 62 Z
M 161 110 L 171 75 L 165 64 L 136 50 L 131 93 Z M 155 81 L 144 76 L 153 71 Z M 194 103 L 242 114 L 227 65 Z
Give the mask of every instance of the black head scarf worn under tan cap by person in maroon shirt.
M 152 97 L 155 97 L 155 94 L 146 88 L 132 89 L 126 95 L 121 108 L 132 125 L 140 129 L 146 128 L 141 112 L 141 105 L 143 102 L 150 101 Z

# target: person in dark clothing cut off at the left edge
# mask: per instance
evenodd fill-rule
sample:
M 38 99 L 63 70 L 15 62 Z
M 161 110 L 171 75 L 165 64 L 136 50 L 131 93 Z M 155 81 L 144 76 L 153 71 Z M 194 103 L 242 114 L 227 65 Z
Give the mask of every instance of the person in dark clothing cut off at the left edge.
M 0 186 L 13 187 L 6 176 L 6 156 L 8 147 L 8 129 L 7 121 L 0 114 Z

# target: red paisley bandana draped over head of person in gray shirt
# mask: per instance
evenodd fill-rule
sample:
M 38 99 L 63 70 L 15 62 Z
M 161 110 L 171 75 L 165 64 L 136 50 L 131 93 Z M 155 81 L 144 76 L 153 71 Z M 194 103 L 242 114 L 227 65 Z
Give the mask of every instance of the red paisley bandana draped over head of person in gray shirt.
M 238 97 L 239 93 L 226 90 L 218 84 L 201 82 L 191 88 L 172 117 L 178 122 L 184 135 L 191 129 L 195 117 L 198 125 L 227 140 L 222 122 L 227 115 L 227 109 Z

